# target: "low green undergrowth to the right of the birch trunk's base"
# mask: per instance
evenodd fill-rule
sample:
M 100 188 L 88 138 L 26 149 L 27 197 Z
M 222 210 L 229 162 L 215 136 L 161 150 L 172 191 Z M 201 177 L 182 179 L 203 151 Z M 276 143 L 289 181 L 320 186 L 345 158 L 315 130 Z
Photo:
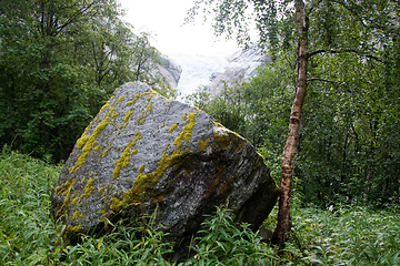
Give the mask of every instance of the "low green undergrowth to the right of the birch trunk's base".
M 359 206 L 293 213 L 293 231 L 316 265 L 398 265 L 399 209 L 373 212 Z

